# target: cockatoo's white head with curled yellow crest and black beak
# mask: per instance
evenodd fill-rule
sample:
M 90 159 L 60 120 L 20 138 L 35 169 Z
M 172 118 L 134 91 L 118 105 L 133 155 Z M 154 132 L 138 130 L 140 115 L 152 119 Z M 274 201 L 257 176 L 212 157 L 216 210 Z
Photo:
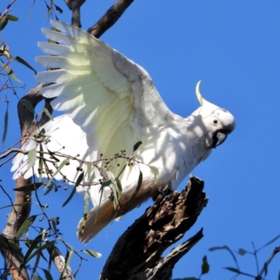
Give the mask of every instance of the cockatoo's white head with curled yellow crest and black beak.
M 198 118 L 202 125 L 205 148 L 216 148 L 235 130 L 235 118 L 229 111 L 205 100 L 200 94 L 200 83 L 201 81 L 197 83 L 196 94 L 201 107 L 193 113 L 193 116 Z

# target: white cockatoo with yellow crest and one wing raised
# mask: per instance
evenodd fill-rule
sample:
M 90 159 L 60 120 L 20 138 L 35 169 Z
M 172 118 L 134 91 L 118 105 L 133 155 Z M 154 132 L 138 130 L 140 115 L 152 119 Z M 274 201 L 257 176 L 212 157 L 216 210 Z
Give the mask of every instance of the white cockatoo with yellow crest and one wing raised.
M 59 31 L 43 29 L 43 34 L 59 44 L 38 43 L 52 56 L 36 57 L 36 61 L 55 70 L 38 73 L 36 80 L 53 83 L 43 87 L 41 94 L 54 98 L 52 107 L 63 115 L 41 127 L 47 141 L 39 145 L 38 137 L 30 135 L 22 149 L 40 151 L 41 146 L 54 153 L 55 158 L 45 155 L 48 161 L 39 170 L 36 161 L 37 175 L 48 173 L 47 169 L 55 173 L 57 160 L 68 158 L 55 179 L 74 184 L 83 169 L 77 191 L 89 195 L 94 205 L 78 225 L 78 237 L 87 243 L 114 218 L 155 196 L 160 187 L 176 189 L 235 129 L 235 118 L 203 99 L 200 83 L 196 87 L 200 108 L 188 118 L 177 116 L 141 66 L 86 31 L 55 20 L 51 24 Z M 133 151 L 139 141 L 141 146 Z M 113 160 L 100 160 L 116 153 L 119 156 Z M 88 162 L 95 162 L 90 174 Z M 13 178 L 21 174 L 29 178 L 28 165 L 27 155 L 18 154 Z

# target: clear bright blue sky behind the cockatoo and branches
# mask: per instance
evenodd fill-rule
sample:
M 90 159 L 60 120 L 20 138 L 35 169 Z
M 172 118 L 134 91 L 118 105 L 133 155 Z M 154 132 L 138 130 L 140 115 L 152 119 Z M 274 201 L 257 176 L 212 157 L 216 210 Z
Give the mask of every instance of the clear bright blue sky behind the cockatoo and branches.
M 0 2 L 3 12 L 8 0 Z M 114 1 L 89 1 L 82 8 L 82 25 L 87 29 Z M 43 1 L 16 1 L 10 14 L 19 22 L 10 22 L 1 37 L 10 45 L 12 55 L 34 62 L 41 55 L 37 41 L 45 41 L 41 27 L 49 27 L 44 18 Z M 64 13 L 59 20 L 70 22 L 71 14 L 63 1 L 57 1 Z M 228 253 L 209 252 L 212 246 L 228 245 L 238 250 L 258 248 L 280 234 L 280 2 L 277 0 L 136 0 L 117 24 L 102 36 L 124 55 L 150 73 L 169 109 L 186 117 L 199 106 L 195 85 L 202 80 L 204 98 L 228 109 L 237 127 L 227 141 L 192 173 L 205 181 L 209 204 L 182 241 L 204 228 L 204 238 L 174 269 L 173 278 L 199 276 L 202 257 L 207 255 L 210 272 L 202 279 L 230 279 L 231 272 L 221 267 L 234 266 Z M 36 81 L 29 69 L 13 64 L 27 89 Z M 22 97 L 25 92 L 18 92 Z M 1 97 L 1 95 L 0 95 Z M 16 99 L 9 95 L 10 122 L 5 147 L 20 137 Z M 0 102 L 0 133 L 3 131 L 5 104 Z M 1 149 L 2 150 L 2 149 Z M 10 164 L 0 169 L 3 186 L 13 188 Z M 181 184 L 181 190 L 187 179 Z M 13 195 L 13 191 L 10 191 Z M 83 262 L 77 279 L 98 279 L 102 266 L 120 234 L 151 204 L 115 222 L 86 247 L 76 238 L 76 225 L 83 212 L 83 197 L 76 195 L 61 208 L 69 192 L 59 190 L 43 197 L 50 205 L 50 216 L 60 216 L 59 228 L 74 248 L 88 248 L 102 253 L 102 258 Z M 8 204 L 3 193 L 0 207 Z M 38 209 L 34 209 L 38 213 Z M 0 225 L 8 209 L 1 210 Z M 275 243 L 275 246 L 279 242 Z M 260 265 L 267 260 L 274 245 L 260 252 Z M 239 258 L 241 269 L 255 274 L 252 256 Z M 278 262 L 278 265 L 277 265 Z M 78 265 L 72 260 L 73 270 Z M 269 266 L 267 279 L 276 279 L 279 256 Z M 90 276 L 89 276 L 90 275 Z M 248 279 L 240 276 L 239 279 Z

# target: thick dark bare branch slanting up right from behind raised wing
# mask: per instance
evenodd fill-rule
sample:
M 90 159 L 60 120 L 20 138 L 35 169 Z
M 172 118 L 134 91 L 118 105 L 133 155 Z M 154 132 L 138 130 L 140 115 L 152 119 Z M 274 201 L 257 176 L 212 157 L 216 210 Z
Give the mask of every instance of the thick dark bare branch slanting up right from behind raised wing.
M 133 0 L 117 0 L 95 25 L 87 29 L 87 32 L 99 38 L 118 21 L 132 2 Z

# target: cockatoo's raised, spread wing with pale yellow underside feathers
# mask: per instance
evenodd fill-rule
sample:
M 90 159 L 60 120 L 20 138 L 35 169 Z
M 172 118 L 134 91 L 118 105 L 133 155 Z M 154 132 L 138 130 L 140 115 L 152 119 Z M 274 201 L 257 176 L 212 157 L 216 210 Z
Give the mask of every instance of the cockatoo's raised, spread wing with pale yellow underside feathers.
M 87 32 L 55 20 L 59 31 L 43 29 L 57 43 L 38 43 L 55 56 L 36 57 L 41 66 L 55 68 L 36 75 L 44 97 L 81 127 L 92 151 L 105 157 L 131 148 L 148 126 L 181 120 L 169 111 L 148 73 L 120 52 Z

